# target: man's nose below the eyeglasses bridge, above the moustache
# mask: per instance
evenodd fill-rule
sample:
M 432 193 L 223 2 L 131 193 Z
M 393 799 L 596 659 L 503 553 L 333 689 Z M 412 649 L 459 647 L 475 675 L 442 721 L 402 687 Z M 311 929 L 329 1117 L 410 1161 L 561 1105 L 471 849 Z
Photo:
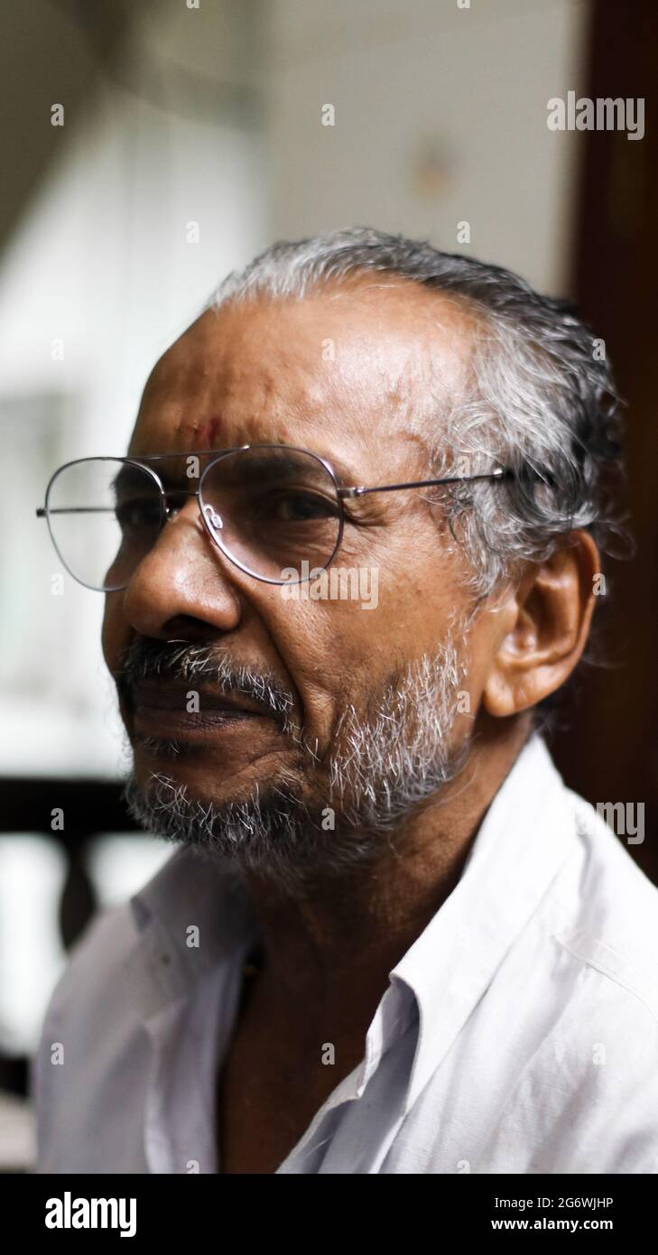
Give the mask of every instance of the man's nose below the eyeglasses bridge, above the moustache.
M 123 614 L 139 635 L 162 640 L 173 634 L 207 640 L 239 625 L 241 599 L 231 563 L 205 530 L 196 498 L 167 520 L 137 566 Z

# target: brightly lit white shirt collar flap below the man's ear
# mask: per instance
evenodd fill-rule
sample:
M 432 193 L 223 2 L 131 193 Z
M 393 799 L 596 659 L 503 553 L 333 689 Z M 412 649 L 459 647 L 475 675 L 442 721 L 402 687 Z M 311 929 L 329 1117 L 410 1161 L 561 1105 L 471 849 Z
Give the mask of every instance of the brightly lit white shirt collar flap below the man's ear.
M 568 791 L 535 733 L 496 793 L 458 884 L 391 973 L 418 1005 L 407 1111 L 569 857 L 574 833 Z

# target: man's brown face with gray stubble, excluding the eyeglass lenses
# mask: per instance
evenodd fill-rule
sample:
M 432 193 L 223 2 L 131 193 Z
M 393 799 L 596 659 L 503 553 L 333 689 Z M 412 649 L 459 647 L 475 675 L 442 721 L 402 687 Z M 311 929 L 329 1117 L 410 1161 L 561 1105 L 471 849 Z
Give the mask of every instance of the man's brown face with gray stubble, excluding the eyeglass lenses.
M 283 443 L 326 458 L 344 484 L 427 478 L 418 417 L 432 389 L 441 430 L 467 353 L 465 315 L 404 282 L 229 305 L 205 314 L 157 364 L 129 452 Z M 432 489 L 434 501 L 440 493 Z M 427 788 L 447 776 L 448 759 L 472 730 L 488 659 L 486 625 L 476 620 L 467 645 L 451 636 L 470 609 L 463 555 L 442 538 L 440 506 L 431 508 L 422 489 L 373 493 L 345 510 L 334 562 L 377 570 L 374 607 L 349 597 L 285 597 L 281 586 L 246 575 L 210 540 L 195 497 L 166 523 L 126 591 L 107 596 L 103 649 L 114 675 L 129 646 L 141 659 L 147 639 L 158 659 L 161 648 L 168 659 L 176 650 L 185 655 L 188 644 L 206 663 L 198 683 L 176 666 L 161 668 L 161 679 L 146 685 L 119 683 L 133 792 L 146 796 L 153 779 L 166 781 L 178 799 L 221 811 L 283 791 L 315 816 L 333 807 L 339 825 L 352 807 L 353 821 L 363 823 L 368 812 L 347 794 L 359 773 L 368 792 L 368 756 L 373 772 L 386 767 L 375 767 L 372 754 L 377 735 L 386 740 L 387 710 L 401 689 L 407 700 L 403 710 L 393 709 L 404 720 L 398 742 L 401 732 L 413 739 L 424 693 L 421 735 L 441 742 L 438 774 Z M 244 717 L 222 718 L 216 709 L 208 715 L 221 692 L 210 679 L 210 658 L 225 674 L 247 676 Z M 450 676 L 440 674 L 446 668 Z M 139 674 L 154 675 L 156 668 Z M 128 671 L 128 680 L 136 676 Z M 448 719 L 458 681 L 467 683 L 471 714 Z M 285 697 L 285 718 L 283 708 L 269 708 L 270 689 Z M 196 717 L 188 713 L 190 690 L 200 694 Z M 443 709 L 433 724 L 434 693 Z M 372 740 L 365 758 L 363 740 L 357 744 L 364 727 Z M 359 752 L 355 777 L 348 764 Z M 394 789 L 396 772 L 384 788 Z

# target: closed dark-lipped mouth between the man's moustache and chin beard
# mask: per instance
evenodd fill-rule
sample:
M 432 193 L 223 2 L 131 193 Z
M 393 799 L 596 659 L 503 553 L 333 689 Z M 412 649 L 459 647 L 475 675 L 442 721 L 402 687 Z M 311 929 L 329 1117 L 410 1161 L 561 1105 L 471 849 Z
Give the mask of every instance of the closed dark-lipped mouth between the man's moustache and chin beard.
M 246 699 L 217 693 L 193 680 L 141 680 L 128 699 L 131 730 L 137 738 L 156 737 L 193 740 L 225 729 L 244 728 L 269 712 Z

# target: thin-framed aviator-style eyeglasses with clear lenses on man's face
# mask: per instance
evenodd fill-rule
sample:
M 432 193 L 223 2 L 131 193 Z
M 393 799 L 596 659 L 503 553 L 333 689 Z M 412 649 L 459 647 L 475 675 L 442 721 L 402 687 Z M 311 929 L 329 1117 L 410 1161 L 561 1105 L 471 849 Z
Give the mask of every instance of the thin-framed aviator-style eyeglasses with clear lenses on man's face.
M 172 484 L 167 468 L 175 458 L 183 464 Z M 497 467 L 488 474 L 348 488 L 324 458 L 288 444 L 79 458 L 55 471 L 36 516 L 48 521 L 57 553 L 78 584 L 114 592 L 128 586 L 167 520 L 197 497 L 211 541 L 235 566 L 265 584 L 295 584 L 315 579 L 335 557 L 345 499 L 509 473 Z M 197 477 L 197 488 L 185 486 Z

